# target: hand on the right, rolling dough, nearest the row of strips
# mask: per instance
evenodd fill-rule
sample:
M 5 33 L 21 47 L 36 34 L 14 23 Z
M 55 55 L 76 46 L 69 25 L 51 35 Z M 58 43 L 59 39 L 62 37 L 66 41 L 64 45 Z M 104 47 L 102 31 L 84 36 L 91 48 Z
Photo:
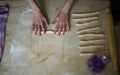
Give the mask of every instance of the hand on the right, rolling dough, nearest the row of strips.
M 59 13 L 59 15 L 52 21 L 52 24 L 56 25 L 55 34 L 58 33 L 59 36 L 61 34 L 64 35 L 66 31 L 70 30 L 68 13 Z

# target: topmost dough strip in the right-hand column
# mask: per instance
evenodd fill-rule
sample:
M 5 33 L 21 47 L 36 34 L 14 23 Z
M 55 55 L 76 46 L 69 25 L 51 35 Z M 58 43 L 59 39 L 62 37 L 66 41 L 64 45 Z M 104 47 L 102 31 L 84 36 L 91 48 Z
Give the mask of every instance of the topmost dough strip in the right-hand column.
M 96 12 L 89 12 L 89 13 L 73 13 L 73 17 L 89 17 L 89 16 L 94 16 L 94 15 L 99 15 L 99 11 Z

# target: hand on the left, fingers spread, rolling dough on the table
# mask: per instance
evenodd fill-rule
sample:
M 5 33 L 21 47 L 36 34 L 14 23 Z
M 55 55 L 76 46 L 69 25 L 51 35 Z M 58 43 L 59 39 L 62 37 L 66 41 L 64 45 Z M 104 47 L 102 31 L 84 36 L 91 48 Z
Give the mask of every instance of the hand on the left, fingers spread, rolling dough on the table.
M 32 24 L 32 31 L 35 35 L 41 35 L 41 32 L 46 32 L 48 22 L 41 12 L 34 13 L 34 20 Z

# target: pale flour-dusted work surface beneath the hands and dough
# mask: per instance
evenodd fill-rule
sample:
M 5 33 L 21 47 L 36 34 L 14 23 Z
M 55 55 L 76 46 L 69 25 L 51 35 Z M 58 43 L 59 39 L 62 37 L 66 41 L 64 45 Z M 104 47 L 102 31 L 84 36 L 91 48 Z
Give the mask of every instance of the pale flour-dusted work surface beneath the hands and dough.
M 64 0 L 44 1 L 51 21 L 57 15 Z M 51 33 L 41 37 L 35 36 L 30 32 L 33 13 L 27 2 L 8 3 L 10 14 L 0 75 L 94 75 L 86 65 L 89 56 L 80 56 L 83 50 L 78 48 L 80 39 L 76 31 L 79 28 L 72 20 L 71 31 L 65 36 L 58 37 Z M 99 4 L 103 5 L 98 6 Z M 77 1 L 72 12 L 94 11 L 105 8 L 108 4 L 102 1 Z M 53 8 L 54 6 L 56 7 Z M 49 29 L 53 30 L 53 28 L 54 25 L 49 26 Z M 100 74 L 116 75 L 111 63 L 108 63 Z

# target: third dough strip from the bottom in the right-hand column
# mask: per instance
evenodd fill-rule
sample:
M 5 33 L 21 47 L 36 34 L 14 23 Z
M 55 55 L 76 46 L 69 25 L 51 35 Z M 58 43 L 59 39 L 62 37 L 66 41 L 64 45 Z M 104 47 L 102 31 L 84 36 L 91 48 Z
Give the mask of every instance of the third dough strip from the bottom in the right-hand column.
M 80 46 L 105 45 L 105 44 L 106 44 L 105 39 L 80 41 Z

